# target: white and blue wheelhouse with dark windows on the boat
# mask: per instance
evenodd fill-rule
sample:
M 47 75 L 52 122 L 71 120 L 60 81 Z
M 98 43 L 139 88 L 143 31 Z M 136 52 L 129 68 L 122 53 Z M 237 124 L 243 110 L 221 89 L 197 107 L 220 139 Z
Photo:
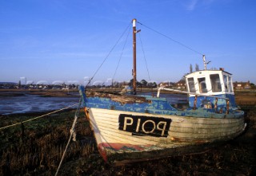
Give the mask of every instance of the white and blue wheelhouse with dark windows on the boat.
M 237 107 L 234 101 L 232 75 L 222 68 L 192 72 L 185 78 L 190 107 L 215 107 L 222 110 Z

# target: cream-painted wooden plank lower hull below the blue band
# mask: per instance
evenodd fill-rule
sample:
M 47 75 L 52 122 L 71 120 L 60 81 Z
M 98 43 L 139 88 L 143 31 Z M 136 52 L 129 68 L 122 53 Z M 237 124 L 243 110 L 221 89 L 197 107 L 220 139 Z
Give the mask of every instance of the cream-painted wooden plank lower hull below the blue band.
M 240 118 L 196 118 L 88 108 L 98 151 L 106 162 L 124 163 L 206 151 L 234 139 L 245 128 Z

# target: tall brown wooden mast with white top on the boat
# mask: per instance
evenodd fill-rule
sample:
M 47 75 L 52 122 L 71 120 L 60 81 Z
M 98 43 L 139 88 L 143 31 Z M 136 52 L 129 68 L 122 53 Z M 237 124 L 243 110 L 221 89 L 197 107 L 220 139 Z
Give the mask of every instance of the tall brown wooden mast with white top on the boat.
M 137 94 L 136 92 L 136 82 L 137 82 L 137 79 L 136 79 L 136 22 L 137 20 L 134 18 L 133 19 L 133 50 L 134 50 L 134 68 L 133 68 L 133 76 L 134 76 L 134 81 L 133 81 L 133 87 L 134 87 L 134 95 Z

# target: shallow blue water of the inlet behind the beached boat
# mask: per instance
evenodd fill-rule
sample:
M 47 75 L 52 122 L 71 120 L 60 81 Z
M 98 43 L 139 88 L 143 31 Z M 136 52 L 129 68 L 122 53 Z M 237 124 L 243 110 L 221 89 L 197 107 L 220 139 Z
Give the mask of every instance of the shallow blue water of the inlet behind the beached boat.
M 151 93 L 143 94 L 151 96 Z M 186 95 L 178 94 L 162 94 L 161 97 L 166 97 L 170 104 L 184 104 L 187 100 Z M 0 115 L 52 111 L 78 103 L 79 97 L 42 97 L 38 95 L 0 97 Z

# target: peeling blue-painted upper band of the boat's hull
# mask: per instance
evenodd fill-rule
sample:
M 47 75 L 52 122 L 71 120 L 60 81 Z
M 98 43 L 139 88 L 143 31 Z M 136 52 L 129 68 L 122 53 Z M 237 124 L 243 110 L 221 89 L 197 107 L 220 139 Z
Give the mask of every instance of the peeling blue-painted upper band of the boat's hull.
M 134 99 L 134 102 L 130 103 L 122 103 L 115 101 L 114 98 L 111 97 L 86 97 L 85 94 L 82 95 L 83 104 L 87 108 L 103 108 L 110 110 L 118 110 L 118 111 L 132 111 L 132 112 L 141 112 L 141 113 L 149 113 L 153 115 L 178 115 L 178 116 L 190 116 L 190 117 L 202 117 L 202 118 L 241 118 L 244 115 L 243 111 L 239 111 L 236 108 L 230 109 L 229 113 L 226 113 L 226 108 L 224 108 L 224 104 L 226 101 L 218 100 L 218 109 L 214 108 L 204 108 L 201 106 L 200 102 L 202 100 L 198 100 L 198 108 L 187 108 L 182 111 L 178 111 L 176 108 L 172 107 L 170 103 L 166 100 L 166 98 L 157 98 L 152 96 L 142 96 L 145 99 L 145 102 L 137 103 Z M 137 97 L 137 96 L 123 96 L 123 99 L 126 98 Z M 204 97 L 203 97 L 204 98 Z M 207 100 L 210 97 L 207 98 Z M 190 100 L 192 101 L 192 100 Z M 214 101 L 211 98 L 211 101 Z M 222 113 L 219 112 L 219 108 L 223 108 L 224 111 Z

